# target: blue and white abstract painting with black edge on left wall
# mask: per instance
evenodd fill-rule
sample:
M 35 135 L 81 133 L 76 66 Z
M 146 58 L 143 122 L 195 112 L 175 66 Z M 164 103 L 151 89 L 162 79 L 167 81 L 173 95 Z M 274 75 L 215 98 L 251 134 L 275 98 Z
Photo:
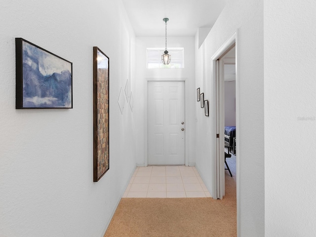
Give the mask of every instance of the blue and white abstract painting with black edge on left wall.
M 73 108 L 73 63 L 15 38 L 16 109 Z

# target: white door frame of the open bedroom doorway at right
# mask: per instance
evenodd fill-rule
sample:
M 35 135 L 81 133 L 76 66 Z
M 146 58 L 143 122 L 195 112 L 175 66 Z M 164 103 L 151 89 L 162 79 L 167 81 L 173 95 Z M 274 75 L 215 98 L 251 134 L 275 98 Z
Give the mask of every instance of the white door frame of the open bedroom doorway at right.
M 220 82 L 220 78 L 217 78 L 217 72 L 220 70 L 219 67 L 219 63 L 217 63 L 216 61 L 218 59 L 220 59 L 234 44 L 236 46 L 236 130 L 238 132 L 236 132 L 236 139 L 237 139 L 237 147 L 236 147 L 236 195 L 237 195 L 237 236 L 240 236 L 240 149 L 239 149 L 239 144 L 240 144 L 240 139 L 239 139 L 239 70 L 238 70 L 238 66 L 239 66 L 239 59 L 238 59 L 238 55 L 239 55 L 239 45 L 238 45 L 238 29 L 236 30 L 236 32 L 228 39 L 225 41 L 225 43 L 216 51 L 216 53 L 212 56 L 211 58 L 211 70 L 212 70 L 212 83 L 214 85 L 216 85 L 216 79 L 218 79 L 218 82 Z M 222 83 L 219 83 L 220 88 L 219 91 L 221 91 L 221 94 L 223 96 L 223 92 L 224 92 L 224 86 L 223 83 L 224 79 L 222 79 Z M 217 111 L 217 106 L 216 106 L 216 88 L 217 86 L 215 86 L 214 91 L 213 91 L 213 108 L 214 111 L 213 113 L 219 113 L 219 111 L 223 111 L 224 109 L 224 99 L 220 99 L 220 103 L 219 103 L 219 111 Z M 212 163 L 213 163 L 213 194 L 216 194 L 217 196 L 214 198 L 220 198 L 221 197 L 221 189 L 224 188 L 223 186 L 223 182 L 224 182 L 224 175 L 225 175 L 225 167 L 224 167 L 224 150 L 222 152 L 222 155 L 217 156 L 216 154 L 220 154 L 221 148 L 224 148 L 224 117 L 223 117 L 223 113 L 218 114 L 219 117 L 219 124 L 217 124 L 217 120 L 214 119 L 213 121 L 213 128 L 214 131 L 216 132 L 218 130 L 218 134 L 220 134 L 220 138 L 216 138 L 213 139 L 213 147 L 216 148 L 216 151 L 214 154 L 214 156 L 212 156 Z M 217 114 L 216 114 L 216 118 L 217 118 Z M 219 126 L 218 126 L 219 125 Z M 216 137 L 217 132 L 214 134 L 214 136 Z M 217 147 L 218 146 L 218 147 Z M 222 165 L 220 165 L 222 164 Z M 223 192 L 223 191 L 222 191 Z

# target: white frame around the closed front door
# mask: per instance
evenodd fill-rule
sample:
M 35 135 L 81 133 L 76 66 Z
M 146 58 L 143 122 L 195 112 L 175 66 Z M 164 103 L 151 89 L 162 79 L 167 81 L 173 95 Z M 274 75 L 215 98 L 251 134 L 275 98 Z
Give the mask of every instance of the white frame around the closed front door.
M 155 79 L 155 78 L 146 78 L 144 80 L 144 164 L 143 166 L 148 166 L 148 82 L 149 81 L 184 81 L 184 97 L 185 97 L 185 165 L 195 165 L 195 163 L 189 163 L 189 88 L 186 84 L 187 78 L 173 79 L 173 78 L 164 78 L 164 79 Z

